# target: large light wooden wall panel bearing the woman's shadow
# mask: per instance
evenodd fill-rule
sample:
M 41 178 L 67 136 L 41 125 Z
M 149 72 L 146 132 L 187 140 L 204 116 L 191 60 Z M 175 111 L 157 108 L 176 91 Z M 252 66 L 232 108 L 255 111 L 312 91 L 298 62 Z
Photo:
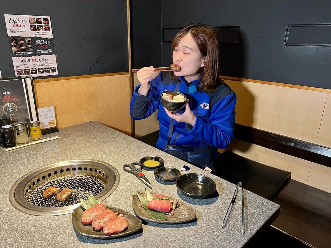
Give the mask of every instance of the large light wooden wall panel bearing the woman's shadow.
M 328 93 L 225 80 L 236 92 L 236 123 L 316 143 Z

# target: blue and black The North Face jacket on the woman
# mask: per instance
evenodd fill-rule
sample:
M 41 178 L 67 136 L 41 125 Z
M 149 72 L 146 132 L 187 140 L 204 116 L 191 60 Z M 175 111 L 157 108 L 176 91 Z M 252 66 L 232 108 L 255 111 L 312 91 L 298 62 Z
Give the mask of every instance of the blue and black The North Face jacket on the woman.
M 160 95 L 164 91 L 174 91 L 176 80 L 170 79 L 169 73 L 162 72 L 150 81 L 150 90 L 147 96 L 138 94 L 140 85 L 135 87 L 130 103 L 130 114 L 134 120 L 147 118 L 157 109 L 157 118 L 160 122 L 160 135 L 156 146 L 164 149 L 167 143 L 170 117 L 166 114 Z M 188 123 L 173 122 L 173 134 L 170 145 L 204 145 L 209 144 L 216 148 L 224 149 L 233 140 L 235 121 L 236 94 L 231 88 L 220 80 L 216 91 L 191 93 L 189 86 L 196 85 L 199 88 L 201 79 L 188 83 L 184 77 L 181 81 L 179 92 L 188 96 L 191 111 L 196 116 L 192 127 Z M 181 109 L 183 113 L 185 108 Z

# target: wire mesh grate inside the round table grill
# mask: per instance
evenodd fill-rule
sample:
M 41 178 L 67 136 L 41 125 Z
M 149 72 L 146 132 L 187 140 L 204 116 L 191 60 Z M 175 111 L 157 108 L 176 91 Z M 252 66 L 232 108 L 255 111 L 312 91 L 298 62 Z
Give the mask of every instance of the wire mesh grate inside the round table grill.
M 72 195 L 64 202 L 58 201 L 55 196 L 44 199 L 43 191 L 48 187 L 65 187 L 72 189 Z M 79 203 L 79 198 L 87 200 L 87 195 L 95 196 L 105 188 L 104 183 L 92 176 L 71 175 L 57 178 L 37 187 L 27 198 L 27 201 L 41 207 L 65 207 Z

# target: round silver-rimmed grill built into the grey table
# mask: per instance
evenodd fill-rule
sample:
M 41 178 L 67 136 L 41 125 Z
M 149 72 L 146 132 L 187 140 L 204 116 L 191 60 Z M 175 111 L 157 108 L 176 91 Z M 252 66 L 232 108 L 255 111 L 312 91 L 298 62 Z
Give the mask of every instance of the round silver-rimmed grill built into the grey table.
M 105 162 L 91 159 L 56 162 L 20 178 L 9 192 L 9 201 L 17 210 L 31 215 L 52 216 L 71 213 L 87 195 L 102 201 L 115 191 L 119 183 L 117 169 Z M 64 202 L 55 196 L 42 197 L 48 187 L 73 190 Z

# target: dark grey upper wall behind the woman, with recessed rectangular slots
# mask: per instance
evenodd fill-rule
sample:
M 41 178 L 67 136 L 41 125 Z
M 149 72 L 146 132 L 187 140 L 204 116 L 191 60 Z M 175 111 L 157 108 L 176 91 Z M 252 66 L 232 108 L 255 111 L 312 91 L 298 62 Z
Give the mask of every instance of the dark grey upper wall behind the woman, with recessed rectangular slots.
M 238 25 L 239 42 L 221 44 L 221 75 L 331 89 L 330 47 L 284 46 L 287 24 L 331 23 L 330 9 L 327 0 L 166 0 L 162 27 Z M 163 42 L 163 66 L 171 55 Z

